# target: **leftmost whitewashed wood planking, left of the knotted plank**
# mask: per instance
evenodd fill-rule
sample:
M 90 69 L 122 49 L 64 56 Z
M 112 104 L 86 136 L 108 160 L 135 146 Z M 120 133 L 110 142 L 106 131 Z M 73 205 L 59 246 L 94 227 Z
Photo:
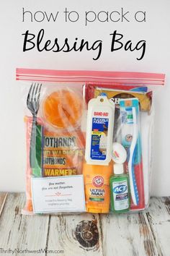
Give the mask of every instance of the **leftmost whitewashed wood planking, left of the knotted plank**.
M 6 198 L 0 218 L 0 247 L 45 249 L 49 216 L 22 216 L 24 195 L 11 193 Z M 41 255 L 45 255 L 45 252 Z

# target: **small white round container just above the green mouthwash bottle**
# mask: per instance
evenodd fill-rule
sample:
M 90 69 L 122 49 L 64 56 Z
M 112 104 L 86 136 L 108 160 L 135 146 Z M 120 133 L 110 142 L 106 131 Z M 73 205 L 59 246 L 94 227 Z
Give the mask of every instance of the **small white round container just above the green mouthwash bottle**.
M 113 142 L 112 144 L 112 160 L 115 163 L 124 163 L 127 158 L 127 153 L 122 144 Z

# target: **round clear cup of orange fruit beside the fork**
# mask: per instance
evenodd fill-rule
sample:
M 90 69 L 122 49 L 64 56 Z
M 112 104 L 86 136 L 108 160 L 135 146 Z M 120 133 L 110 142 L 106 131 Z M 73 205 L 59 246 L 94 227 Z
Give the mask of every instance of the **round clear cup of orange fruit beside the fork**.
M 83 101 L 71 90 L 57 90 L 42 104 L 43 116 L 53 127 L 75 127 L 82 115 Z

